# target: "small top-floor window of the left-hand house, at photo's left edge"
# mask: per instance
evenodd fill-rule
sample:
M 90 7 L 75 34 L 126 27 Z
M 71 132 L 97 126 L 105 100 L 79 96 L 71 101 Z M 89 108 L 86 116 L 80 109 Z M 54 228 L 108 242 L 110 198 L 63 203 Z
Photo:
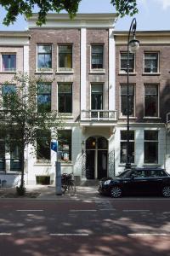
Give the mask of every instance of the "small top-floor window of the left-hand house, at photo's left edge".
M 7 72 L 16 71 L 16 55 L 15 54 L 2 55 L 2 71 L 7 71 Z

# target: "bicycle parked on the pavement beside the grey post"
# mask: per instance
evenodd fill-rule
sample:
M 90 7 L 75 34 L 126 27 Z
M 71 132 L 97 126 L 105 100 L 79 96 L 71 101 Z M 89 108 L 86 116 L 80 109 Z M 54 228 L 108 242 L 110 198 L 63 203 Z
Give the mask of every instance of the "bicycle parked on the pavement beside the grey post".
M 76 185 L 74 183 L 73 173 L 63 173 L 61 175 L 61 191 L 63 194 L 68 192 L 69 195 L 75 195 Z

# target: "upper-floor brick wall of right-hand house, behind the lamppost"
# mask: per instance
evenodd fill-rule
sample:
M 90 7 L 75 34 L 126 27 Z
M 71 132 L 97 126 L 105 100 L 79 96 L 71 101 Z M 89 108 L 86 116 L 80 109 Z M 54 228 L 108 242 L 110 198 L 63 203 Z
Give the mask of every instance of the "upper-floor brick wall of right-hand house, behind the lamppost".
M 127 84 L 127 75 L 119 73 L 120 51 L 127 51 L 127 46 L 116 45 L 116 109 L 120 113 L 120 84 Z M 146 75 L 144 70 L 144 51 L 158 51 L 160 53 L 160 73 Z M 169 45 L 140 45 L 136 53 L 136 74 L 129 75 L 129 84 L 135 85 L 137 122 L 165 122 L 166 113 L 170 111 L 170 46 Z M 160 118 L 143 119 L 144 116 L 144 84 L 158 84 L 160 96 Z M 126 121 L 126 120 L 125 120 Z

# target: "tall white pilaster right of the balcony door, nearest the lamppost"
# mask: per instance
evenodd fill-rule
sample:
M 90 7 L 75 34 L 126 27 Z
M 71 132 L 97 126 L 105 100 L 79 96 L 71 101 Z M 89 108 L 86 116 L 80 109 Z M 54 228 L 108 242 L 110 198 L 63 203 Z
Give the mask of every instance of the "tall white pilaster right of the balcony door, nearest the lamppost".
M 109 110 L 116 110 L 116 68 L 114 29 L 109 28 Z

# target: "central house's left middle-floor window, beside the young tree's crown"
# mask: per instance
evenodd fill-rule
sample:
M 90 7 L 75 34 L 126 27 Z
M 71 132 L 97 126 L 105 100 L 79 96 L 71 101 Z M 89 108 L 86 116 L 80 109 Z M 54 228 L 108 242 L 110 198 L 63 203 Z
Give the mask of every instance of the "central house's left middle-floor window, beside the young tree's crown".
M 37 111 L 51 111 L 51 84 L 37 84 Z

